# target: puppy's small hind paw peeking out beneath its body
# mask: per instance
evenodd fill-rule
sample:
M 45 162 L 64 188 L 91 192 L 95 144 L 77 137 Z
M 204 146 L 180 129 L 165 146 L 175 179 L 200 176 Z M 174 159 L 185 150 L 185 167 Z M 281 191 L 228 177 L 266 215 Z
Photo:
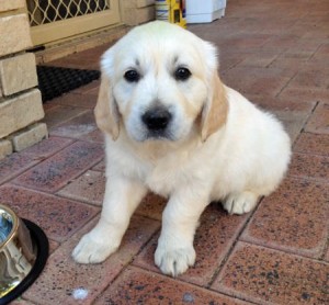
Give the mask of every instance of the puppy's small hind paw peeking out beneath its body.
M 223 203 L 224 208 L 229 214 L 245 214 L 253 210 L 258 195 L 252 192 L 230 194 Z

